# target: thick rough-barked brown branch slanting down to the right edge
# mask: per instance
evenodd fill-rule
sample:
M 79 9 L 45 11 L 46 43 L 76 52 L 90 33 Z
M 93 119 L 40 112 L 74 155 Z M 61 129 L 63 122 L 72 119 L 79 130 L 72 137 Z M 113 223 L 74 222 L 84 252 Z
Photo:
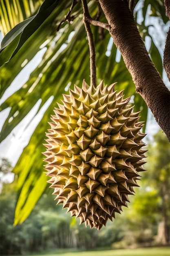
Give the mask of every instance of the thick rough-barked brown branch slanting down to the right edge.
M 170 91 L 154 67 L 127 3 L 99 0 L 110 25 L 110 35 L 120 50 L 126 67 L 159 126 L 170 141 Z

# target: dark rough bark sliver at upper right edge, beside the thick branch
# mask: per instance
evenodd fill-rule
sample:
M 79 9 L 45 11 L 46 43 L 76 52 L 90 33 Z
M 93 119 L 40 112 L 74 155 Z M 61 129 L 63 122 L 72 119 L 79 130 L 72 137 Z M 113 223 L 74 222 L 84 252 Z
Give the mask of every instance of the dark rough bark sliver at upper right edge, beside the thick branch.
M 170 19 L 170 0 L 164 0 L 164 4 L 166 7 L 168 18 Z M 170 81 L 170 29 L 168 31 L 168 35 L 166 38 L 166 45 L 165 45 L 164 54 L 163 54 L 163 67 Z

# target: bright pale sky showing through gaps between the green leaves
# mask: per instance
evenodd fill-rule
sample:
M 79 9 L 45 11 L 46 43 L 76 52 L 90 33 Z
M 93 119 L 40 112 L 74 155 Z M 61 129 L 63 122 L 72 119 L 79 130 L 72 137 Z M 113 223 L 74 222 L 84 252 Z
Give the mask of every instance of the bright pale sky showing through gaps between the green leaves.
M 140 6 L 139 6 L 140 7 Z M 138 7 L 138 8 L 139 8 Z M 148 10 L 149 11 L 149 10 Z M 140 19 L 140 15 L 138 16 Z M 165 45 L 166 40 L 166 31 L 168 31 L 168 26 L 165 26 L 163 29 L 160 26 L 159 22 L 152 17 L 149 20 L 146 20 L 148 24 L 152 24 L 153 27 L 150 27 L 151 33 L 153 38 L 155 38 L 155 44 L 159 47 L 161 51 L 161 55 L 163 56 L 163 49 Z M 146 25 L 148 25 L 146 24 Z M 1 38 L 2 39 L 2 36 Z M 150 47 L 150 40 L 146 42 L 146 48 Z M 5 101 L 11 94 L 13 94 L 16 90 L 22 87 L 24 83 L 29 79 L 29 74 L 35 69 L 36 66 L 41 62 L 42 56 L 44 54 L 44 51 L 46 48 L 42 48 L 36 56 L 33 58 L 32 61 L 27 63 L 25 67 L 23 68 L 22 72 L 18 74 L 18 76 L 15 78 L 13 83 L 10 85 L 10 87 L 7 89 L 7 91 L 4 93 L 3 97 L 0 99 L 0 104 Z M 166 83 L 166 85 L 170 88 L 170 83 L 168 82 L 166 73 L 163 72 L 163 80 Z M 9 159 L 9 162 L 12 164 L 12 166 L 15 166 L 16 162 L 18 161 L 18 158 L 20 157 L 22 150 L 24 147 L 28 144 L 29 139 L 35 129 L 35 127 L 38 125 L 39 121 L 41 120 L 46 108 L 48 108 L 49 104 L 51 103 L 52 99 L 49 99 L 49 101 L 46 102 L 46 104 L 43 106 L 43 108 L 40 110 L 38 115 L 34 117 L 39 105 L 40 101 L 36 103 L 34 108 L 29 112 L 29 114 L 22 120 L 22 122 L 15 127 L 15 129 L 11 132 L 11 134 L 4 140 L 2 143 L 0 143 L 0 159 L 1 158 L 7 158 Z M 3 120 L 7 117 L 9 114 L 10 109 L 3 110 L 0 112 L 0 130 L 3 126 Z M 146 133 L 148 134 L 145 138 L 147 141 L 148 138 L 152 137 L 157 131 L 159 130 L 159 126 L 157 125 L 154 117 L 152 116 L 152 113 L 149 110 L 148 113 L 148 121 L 146 126 Z M 44 132 L 45 134 L 45 132 Z M 45 136 L 44 136 L 45 137 Z M 13 176 L 7 176 L 5 177 L 7 180 L 12 180 Z

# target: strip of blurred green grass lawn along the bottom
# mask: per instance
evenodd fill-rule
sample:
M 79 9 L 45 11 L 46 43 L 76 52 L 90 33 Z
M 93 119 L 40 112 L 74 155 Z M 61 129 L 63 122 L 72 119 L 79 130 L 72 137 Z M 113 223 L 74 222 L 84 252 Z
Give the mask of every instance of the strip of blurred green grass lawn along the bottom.
M 120 249 L 106 251 L 69 252 L 68 250 L 56 250 L 53 254 L 46 256 L 170 256 L 170 247 L 141 248 L 141 249 Z M 33 255 L 31 255 L 33 256 Z M 44 254 L 37 254 L 44 256 Z

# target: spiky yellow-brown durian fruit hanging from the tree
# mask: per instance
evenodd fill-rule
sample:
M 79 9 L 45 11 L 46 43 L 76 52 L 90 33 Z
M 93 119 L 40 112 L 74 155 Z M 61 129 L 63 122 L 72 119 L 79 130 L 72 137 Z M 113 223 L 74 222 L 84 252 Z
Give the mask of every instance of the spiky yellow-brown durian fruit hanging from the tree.
M 55 108 L 46 134 L 53 194 L 80 224 L 97 229 L 127 206 L 145 163 L 143 122 L 114 85 L 75 85 Z

